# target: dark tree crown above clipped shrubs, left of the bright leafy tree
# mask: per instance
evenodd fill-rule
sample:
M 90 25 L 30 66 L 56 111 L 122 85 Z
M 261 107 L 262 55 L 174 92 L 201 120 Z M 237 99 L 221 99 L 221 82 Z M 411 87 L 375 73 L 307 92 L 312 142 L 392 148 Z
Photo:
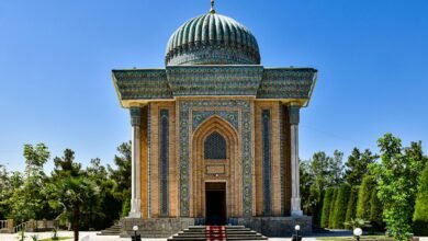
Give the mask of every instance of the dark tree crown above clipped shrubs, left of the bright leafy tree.
M 369 173 L 369 165 L 378 158 L 379 156 L 373 154 L 369 149 L 361 153 L 358 148 L 353 148 L 348 162 L 345 163 L 345 180 L 351 186 L 361 185 L 362 177 Z

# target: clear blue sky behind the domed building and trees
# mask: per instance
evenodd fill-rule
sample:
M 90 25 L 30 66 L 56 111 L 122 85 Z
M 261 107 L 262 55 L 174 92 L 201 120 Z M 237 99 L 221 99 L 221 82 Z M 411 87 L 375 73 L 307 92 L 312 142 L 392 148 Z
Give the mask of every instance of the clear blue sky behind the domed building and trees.
M 131 137 L 111 70 L 164 67 L 166 44 L 210 0 L 0 1 L 0 163 L 23 170 L 24 144 L 83 164 L 111 163 Z M 378 151 L 385 133 L 428 141 L 428 2 L 216 0 L 256 35 L 267 67 L 314 67 L 301 157 Z M 52 168 L 52 162 L 47 169 Z

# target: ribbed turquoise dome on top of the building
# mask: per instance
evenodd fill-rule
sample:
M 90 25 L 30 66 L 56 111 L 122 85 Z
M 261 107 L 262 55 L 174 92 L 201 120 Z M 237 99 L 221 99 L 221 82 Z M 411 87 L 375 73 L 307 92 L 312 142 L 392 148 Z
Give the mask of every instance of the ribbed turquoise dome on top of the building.
M 251 32 L 235 20 L 207 13 L 189 20 L 169 38 L 166 65 L 260 65 Z

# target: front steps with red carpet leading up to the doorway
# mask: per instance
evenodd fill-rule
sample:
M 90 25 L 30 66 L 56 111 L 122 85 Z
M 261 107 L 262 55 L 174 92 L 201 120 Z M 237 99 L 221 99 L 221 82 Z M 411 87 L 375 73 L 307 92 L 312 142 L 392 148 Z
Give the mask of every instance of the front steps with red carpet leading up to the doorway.
M 174 240 L 268 240 L 264 236 L 245 226 L 190 226 L 188 229 L 173 234 L 168 241 Z

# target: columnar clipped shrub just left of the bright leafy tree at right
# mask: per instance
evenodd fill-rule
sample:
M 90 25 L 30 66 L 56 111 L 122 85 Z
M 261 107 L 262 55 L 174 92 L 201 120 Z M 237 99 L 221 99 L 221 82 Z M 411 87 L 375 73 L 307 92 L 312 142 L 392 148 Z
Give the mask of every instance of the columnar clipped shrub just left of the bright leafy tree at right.
M 375 179 L 372 175 L 365 175 L 358 193 L 357 217 L 370 220 L 370 198 L 372 190 L 375 188 Z

